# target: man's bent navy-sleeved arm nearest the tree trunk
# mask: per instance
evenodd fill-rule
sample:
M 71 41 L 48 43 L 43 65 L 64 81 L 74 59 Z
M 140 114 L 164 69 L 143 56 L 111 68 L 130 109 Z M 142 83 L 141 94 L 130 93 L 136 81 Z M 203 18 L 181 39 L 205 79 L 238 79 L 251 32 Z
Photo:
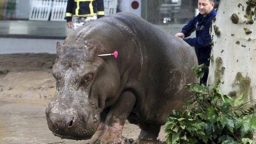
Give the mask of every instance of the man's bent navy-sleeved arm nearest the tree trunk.
M 210 23 L 205 25 L 205 28 L 200 37 L 184 39 L 190 46 L 194 47 L 205 47 L 211 42 L 210 37 Z

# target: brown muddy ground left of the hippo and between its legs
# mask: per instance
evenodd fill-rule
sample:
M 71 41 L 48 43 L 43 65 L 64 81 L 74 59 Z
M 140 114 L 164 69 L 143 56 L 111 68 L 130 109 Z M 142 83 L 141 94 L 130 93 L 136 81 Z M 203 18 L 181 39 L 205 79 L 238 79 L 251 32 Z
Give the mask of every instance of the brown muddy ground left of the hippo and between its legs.
M 82 144 L 60 139 L 48 129 L 44 110 L 55 94 L 53 54 L 0 55 L 0 144 Z M 165 126 L 159 139 L 165 141 Z M 126 122 L 123 136 L 137 139 L 140 129 Z

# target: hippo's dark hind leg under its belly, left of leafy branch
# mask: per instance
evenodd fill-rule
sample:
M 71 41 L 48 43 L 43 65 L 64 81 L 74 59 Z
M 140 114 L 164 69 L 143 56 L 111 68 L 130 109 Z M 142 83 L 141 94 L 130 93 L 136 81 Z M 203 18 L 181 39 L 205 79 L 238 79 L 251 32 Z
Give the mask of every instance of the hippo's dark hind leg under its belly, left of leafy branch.
M 162 142 L 157 141 L 161 125 L 154 123 L 139 123 L 139 128 L 141 129 L 139 138 L 135 140 L 133 144 L 162 144 Z

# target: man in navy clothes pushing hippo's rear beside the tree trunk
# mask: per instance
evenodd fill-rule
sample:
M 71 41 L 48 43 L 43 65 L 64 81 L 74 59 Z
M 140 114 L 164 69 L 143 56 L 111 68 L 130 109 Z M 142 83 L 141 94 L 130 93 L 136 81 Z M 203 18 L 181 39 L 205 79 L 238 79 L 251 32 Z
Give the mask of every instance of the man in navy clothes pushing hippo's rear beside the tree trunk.
M 214 5 L 213 0 L 198 0 L 197 6 L 200 13 L 185 25 L 180 33 L 175 34 L 176 37 L 183 39 L 189 37 L 196 30 L 196 38 L 186 38 L 183 40 L 195 48 L 199 65 L 210 65 L 210 25 L 217 13 Z M 204 72 L 200 83 L 206 84 L 208 72 L 208 69 Z

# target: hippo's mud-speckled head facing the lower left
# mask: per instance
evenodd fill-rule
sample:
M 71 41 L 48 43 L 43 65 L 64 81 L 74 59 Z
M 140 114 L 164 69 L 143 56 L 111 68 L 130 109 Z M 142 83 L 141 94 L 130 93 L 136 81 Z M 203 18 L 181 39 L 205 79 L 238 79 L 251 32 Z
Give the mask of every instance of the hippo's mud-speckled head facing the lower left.
M 97 56 L 111 53 L 110 45 L 73 37 L 62 46 L 57 43 L 53 65 L 57 91 L 46 108 L 46 119 L 56 136 L 90 139 L 104 121 L 103 113 L 117 101 L 121 79 L 114 57 Z

